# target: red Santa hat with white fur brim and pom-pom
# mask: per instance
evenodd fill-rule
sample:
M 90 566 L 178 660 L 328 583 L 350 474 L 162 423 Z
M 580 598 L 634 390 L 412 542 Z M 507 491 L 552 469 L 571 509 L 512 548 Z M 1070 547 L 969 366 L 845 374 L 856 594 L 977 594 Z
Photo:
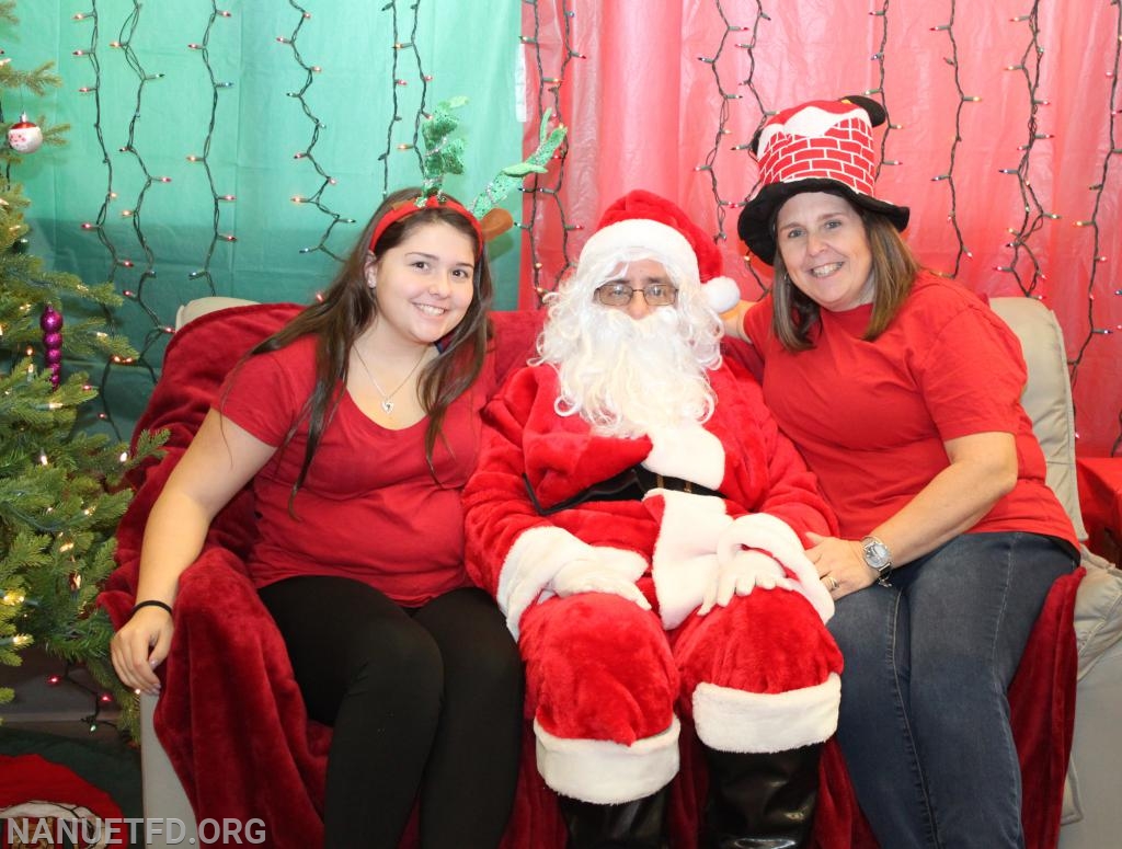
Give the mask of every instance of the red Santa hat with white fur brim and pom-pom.
M 739 301 L 739 287 L 724 276 L 724 258 L 712 238 L 677 204 L 635 190 L 604 211 L 596 232 L 585 243 L 580 262 L 644 257 L 677 268 L 686 276 L 686 285 L 702 286 L 706 301 L 718 313 Z

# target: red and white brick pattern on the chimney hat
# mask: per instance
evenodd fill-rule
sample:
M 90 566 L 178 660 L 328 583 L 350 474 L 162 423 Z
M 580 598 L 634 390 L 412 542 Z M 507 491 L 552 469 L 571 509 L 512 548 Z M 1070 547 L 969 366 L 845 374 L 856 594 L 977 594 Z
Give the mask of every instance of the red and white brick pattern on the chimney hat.
M 872 197 L 874 162 L 868 121 L 849 117 L 821 136 L 775 132 L 760 156 L 760 174 L 765 185 L 810 177 L 836 179 Z

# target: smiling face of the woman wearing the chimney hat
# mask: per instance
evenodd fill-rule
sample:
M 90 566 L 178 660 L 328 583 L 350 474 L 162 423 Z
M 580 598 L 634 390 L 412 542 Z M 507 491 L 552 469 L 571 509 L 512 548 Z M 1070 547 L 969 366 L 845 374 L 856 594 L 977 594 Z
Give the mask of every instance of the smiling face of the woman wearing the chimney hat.
M 842 312 L 873 299 L 873 255 L 861 213 L 827 192 L 801 192 L 775 216 L 775 241 L 799 290 Z

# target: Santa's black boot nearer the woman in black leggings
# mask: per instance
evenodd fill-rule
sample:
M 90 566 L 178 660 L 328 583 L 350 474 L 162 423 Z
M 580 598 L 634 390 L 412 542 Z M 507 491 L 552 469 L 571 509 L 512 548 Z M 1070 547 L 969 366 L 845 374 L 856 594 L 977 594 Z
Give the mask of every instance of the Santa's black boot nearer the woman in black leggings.
M 618 805 L 597 805 L 561 795 L 558 802 L 569 832 L 568 849 L 666 849 L 666 787 Z

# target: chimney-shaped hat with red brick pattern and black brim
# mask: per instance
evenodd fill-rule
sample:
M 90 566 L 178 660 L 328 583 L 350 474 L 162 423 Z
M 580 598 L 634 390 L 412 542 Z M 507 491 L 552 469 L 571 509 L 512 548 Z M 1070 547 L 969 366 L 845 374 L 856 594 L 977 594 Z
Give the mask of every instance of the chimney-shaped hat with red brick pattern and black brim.
M 873 128 L 885 121 L 875 100 L 853 95 L 812 100 L 785 109 L 764 122 L 752 140 L 762 188 L 741 212 L 736 230 L 748 249 L 767 265 L 775 260 L 775 215 L 800 192 L 829 192 L 855 206 L 908 227 L 909 210 L 873 193 L 876 157 Z

